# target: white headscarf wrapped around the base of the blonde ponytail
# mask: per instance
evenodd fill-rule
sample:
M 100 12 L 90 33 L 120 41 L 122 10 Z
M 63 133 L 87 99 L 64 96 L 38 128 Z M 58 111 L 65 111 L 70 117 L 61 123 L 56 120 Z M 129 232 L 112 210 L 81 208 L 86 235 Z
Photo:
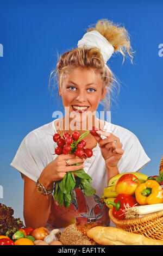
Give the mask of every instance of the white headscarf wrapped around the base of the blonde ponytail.
M 84 34 L 83 38 L 78 41 L 78 48 L 83 48 L 84 45 L 87 49 L 93 47 L 99 48 L 105 63 L 110 59 L 112 53 L 114 53 L 114 47 L 96 30 L 87 32 Z

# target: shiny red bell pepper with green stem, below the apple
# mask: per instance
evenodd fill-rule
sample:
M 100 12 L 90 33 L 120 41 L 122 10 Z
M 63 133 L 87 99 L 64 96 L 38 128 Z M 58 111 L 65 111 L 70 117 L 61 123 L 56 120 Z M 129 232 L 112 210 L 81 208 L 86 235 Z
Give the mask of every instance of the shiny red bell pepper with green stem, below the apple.
M 138 206 L 135 197 L 130 196 L 129 194 L 118 194 L 114 202 L 108 201 L 107 204 L 112 204 L 112 215 L 118 220 L 124 220 L 125 212 L 127 208 Z

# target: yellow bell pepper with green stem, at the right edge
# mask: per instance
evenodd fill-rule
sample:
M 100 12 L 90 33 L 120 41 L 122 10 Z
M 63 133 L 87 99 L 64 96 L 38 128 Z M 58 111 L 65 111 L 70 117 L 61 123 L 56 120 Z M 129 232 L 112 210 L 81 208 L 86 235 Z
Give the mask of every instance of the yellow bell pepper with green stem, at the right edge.
M 135 197 L 140 205 L 161 204 L 163 203 L 163 190 L 157 181 L 147 180 L 136 188 Z

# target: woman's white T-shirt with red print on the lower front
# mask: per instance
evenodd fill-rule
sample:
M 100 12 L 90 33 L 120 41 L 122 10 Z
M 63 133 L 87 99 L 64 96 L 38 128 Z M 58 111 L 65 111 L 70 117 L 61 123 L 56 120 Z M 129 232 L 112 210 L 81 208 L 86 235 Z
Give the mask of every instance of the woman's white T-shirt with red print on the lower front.
M 124 129 L 121 126 L 114 125 L 106 121 L 103 129 L 120 138 L 120 142 L 123 145 L 122 149 L 124 149 L 124 154 L 122 155 L 121 160 L 118 162 L 118 170 L 120 173 L 139 172 L 143 166 L 150 161 L 149 157 L 143 150 L 139 139 L 137 139 L 134 133 Z M 36 182 L 47 164 L 52 162 L 57 157 L 57 155 L 54 155 L 54 149 L 57 147 L 57 143 L 53 141 L 54 133 L 57 133 L 54 121 L 28 133 L 28 135 L 24 137 L 23 141 L 21 142 L 20 147 L 18 148 L 17 153 L 10 165 L 16 168 L 21 173 L 22 177 L 24 174 Z M 104 136 L 101 137 L 105 138 Z M 86 164 L 84 170 L 91 176 L 92 187 L 95 188 L 96 194 L 90 197 L 82 194 L 85 205 L 87 205 L 85 206 L 87 208 L 85 208 L 84 212 L 82 212 L 81 209 L 79 211 L 79 208 L 82 208 L 79 207 L 79 202 L 73 202 L 73 205 L 76 207 L 77 216 L 74 216 L 73 220 L 69 220 L 70 216 L 67 217 L 69 219 L 66 220 L 67 222 L 63 224 L 63 227 L 75 222 L 76 217 L 78 217 L 79 220 L 80 217 L 86 218 L 96 216 L 98 220 L 101 220 L 101 218 L 104 220 L 104 215 L 101 212 L 104 211 L 104 208 L 100 202 L 100 198 L 103 196 L 104 188 L 108 186 L 105 161 L 102 157 L 98 144 L 95 148 L 93 148 L 92 151 L 92 157 L 87 158 L 84 162 Z M 78 192 L 79 191 L 77 191 L 77 194 Z M 81 194 L 78 196 L 81 199 Z M 54 204 L 55 208 L 60 207 L 55 200 Z M 55 216 L 53 216 L 56 214 L 56 212 L 57 210 L 54 208 L 51 210 L 51 224 L 53 224 L 55 227 L 60 227 L 60 223 L 58 225 L 56 222 L 57 217 L 55 218 Z M 64 222 L 65 212 L 63 215 L 62 221 Z M 59 216 L 61 220 L 61 215 Z

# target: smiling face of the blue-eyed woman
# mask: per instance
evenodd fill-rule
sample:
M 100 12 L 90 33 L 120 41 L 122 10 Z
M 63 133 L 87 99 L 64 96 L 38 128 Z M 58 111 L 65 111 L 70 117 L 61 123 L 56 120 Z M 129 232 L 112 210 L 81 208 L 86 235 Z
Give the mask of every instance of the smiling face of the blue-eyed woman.
M 59 94 L 70 117 L 75 113 L 82 121 L 87 112 L 95 112 L 99 101 L 104 99 L 106 90 L 102 89 L 103 82 L 98 72 L 92 68 L 74 68 L 65 75 Z

